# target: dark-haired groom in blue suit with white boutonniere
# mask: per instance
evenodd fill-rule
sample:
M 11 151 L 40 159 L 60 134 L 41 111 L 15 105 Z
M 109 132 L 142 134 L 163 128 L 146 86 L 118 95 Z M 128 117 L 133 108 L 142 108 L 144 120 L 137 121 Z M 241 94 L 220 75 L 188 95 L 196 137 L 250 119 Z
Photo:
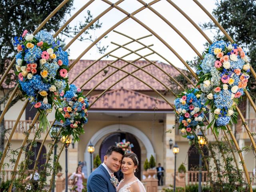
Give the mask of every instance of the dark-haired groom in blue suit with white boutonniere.
M 111 182 L 114 172 L 120 169 L 124 151 L 120 147 L 110 146 L 104 162 L 94 170 L 87 180 L 88 192 L 116 192 L 116 186 Z

